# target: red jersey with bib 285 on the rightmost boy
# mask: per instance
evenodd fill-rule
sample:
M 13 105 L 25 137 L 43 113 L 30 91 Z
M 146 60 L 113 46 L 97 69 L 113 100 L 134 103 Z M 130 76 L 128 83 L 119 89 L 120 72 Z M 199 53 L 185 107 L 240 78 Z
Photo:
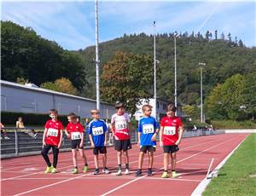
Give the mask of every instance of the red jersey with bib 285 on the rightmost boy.
M 175 142 L 178 139 L 177 130 L 179 127 L 183 126 L 181 118 L 179 117 L 164 117 L 161 120 L 161 127 L 164 128 L 163 131 L 163 145 L 170 146 L 175 145 Z

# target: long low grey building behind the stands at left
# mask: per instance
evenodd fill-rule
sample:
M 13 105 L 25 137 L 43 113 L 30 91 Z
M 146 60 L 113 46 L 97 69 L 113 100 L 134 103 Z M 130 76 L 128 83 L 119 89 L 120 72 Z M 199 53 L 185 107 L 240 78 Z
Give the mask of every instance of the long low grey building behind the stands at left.
M 61 115 L 75 112 L 81 118 L 89 118 L 96 101 L 80 96 L 68 95 L 33 85 L 15 84 L 0 80 L 1 111 L 48 113 L 55 108 Z M 115 112 L 113 104 L 101 102 L 101 117 L 111 118 Z

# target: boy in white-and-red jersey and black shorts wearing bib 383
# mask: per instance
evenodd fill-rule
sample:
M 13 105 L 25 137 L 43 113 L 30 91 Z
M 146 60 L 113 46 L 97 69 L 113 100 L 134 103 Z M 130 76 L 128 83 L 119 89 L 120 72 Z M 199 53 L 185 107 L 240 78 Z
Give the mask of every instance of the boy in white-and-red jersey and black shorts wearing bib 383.
M 125 175 L 130 173 L 129 170 L 129 155 L 128 150 L 131 149 L 131 141 L 129 130 L 131 130 L 131 120 L 128 113 L 125 112 L 124 104 L 117 102 L 115 104 L 116 113 L 111 118 L 110 129 L 114 135 L 114 149 L 117 151 L 118 157 L 118 173 L 117 176 L 122 175 L 122 153 L 125 155 Z

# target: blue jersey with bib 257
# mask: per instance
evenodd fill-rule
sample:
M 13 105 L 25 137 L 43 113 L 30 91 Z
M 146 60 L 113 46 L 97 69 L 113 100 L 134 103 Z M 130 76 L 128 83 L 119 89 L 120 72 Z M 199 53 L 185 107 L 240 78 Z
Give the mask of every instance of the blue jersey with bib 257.
M 159 129 L 159 124 L 154 117 L 143 117 L 138 123 L 138 132 L 141 132 L 141 146 L 155 146 L 156 142 L 151 141 L 156 129 Z

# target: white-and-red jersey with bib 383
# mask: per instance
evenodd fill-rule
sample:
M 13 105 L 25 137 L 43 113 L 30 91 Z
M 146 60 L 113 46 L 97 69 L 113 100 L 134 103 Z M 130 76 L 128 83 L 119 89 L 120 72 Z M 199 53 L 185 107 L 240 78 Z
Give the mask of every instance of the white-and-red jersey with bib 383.
M 128 124 L 131 122 L 129 114 L 123 113 L 118 115 L 117 113 L 113 114 L 111 118 L 111 124 L 114 124 L 114 139 L 115 140 L 128 140 L 130 139 Z

